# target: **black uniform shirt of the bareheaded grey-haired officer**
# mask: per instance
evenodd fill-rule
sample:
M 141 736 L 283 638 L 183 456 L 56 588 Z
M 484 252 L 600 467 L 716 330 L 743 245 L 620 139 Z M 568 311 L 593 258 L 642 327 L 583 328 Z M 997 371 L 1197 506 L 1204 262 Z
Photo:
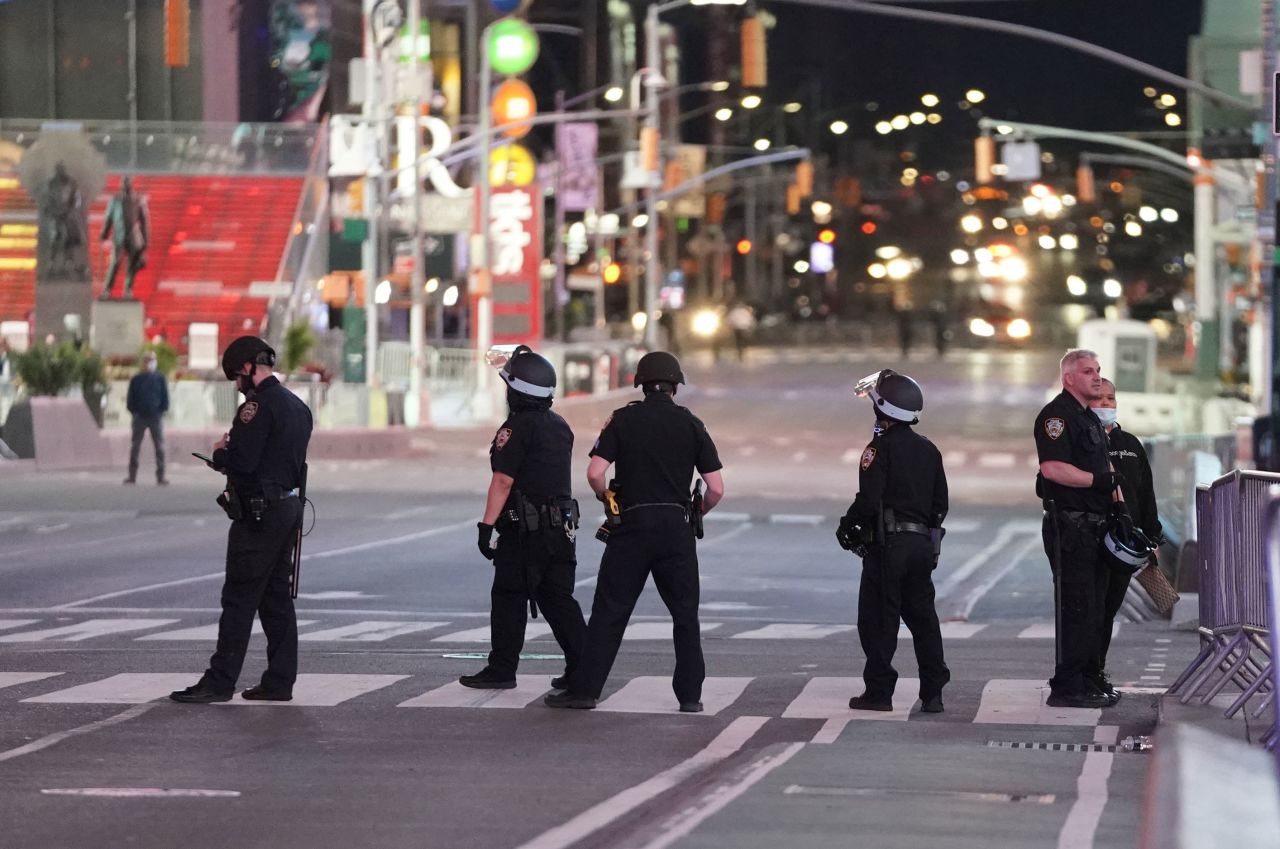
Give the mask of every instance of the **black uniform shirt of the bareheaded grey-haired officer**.
M 1107 462 L 1107 434 L 1093 411 L 1076 401 L 1066 389 L 1044 405 L 1036 416 L 1036 453 L 1039 462 L 1056 460 L 1092 474 L 1110 471 Z M 1064 487 L 1039 476 L 1036 492 L 1059 510 L 1079 510 L 1105 513 L 1111 506 L 1111 496 L 1080 487 Z

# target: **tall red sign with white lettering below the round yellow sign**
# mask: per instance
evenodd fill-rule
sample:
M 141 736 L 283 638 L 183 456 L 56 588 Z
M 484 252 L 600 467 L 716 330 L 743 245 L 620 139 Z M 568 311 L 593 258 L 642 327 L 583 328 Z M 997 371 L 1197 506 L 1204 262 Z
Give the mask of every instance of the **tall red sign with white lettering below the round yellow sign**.
M 532 183 L 489 193 L 494 344 L 538 347 L 543 338 L 543 192 Z M 472 310 L 471 333 L 479 316 Z

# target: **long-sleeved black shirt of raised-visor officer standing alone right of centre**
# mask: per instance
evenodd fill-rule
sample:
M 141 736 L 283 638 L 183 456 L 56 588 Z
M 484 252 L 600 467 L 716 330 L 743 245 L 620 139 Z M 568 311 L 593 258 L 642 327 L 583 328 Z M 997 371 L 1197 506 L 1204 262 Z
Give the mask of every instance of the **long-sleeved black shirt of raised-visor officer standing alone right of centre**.
M 863 449 L 858 473 L 858 497 L 849 517 L 863 528 L 874 528 L 879 508 L 893 511 L 896 521 L 914 521 L 941 528 L 947 515 L 947 474 L 937 446 L 895 424 L 876 434 Z

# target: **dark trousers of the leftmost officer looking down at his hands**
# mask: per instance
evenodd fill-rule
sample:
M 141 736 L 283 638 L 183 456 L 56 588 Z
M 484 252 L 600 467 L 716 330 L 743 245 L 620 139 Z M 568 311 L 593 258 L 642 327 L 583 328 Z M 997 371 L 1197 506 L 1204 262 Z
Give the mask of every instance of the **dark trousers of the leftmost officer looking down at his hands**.
M 289 597 L 293 578 L 293 542 L 302 521 L 297 497 L 266 499 L 261 525 L 244 519 L 232 522 L 227 538 L 227 580 L 223 615 L 218 621 L 218 648 L 209 659 L 205 683 L 219 691 L 236 688 L 248 651 L 253 615 L 266 634 L 269 690 L 293 690 L 298 675 L 298 622 Z

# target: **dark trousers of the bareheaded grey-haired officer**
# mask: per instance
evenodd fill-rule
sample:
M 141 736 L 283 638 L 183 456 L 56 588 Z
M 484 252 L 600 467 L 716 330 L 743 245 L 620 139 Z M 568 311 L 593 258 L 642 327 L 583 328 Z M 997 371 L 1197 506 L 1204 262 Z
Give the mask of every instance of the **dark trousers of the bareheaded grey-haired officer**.
M 1085 690 L 1084 679 L 1101 672 L 1101 622 L 1110 570 L 1101 556 L 1103 517 L 1089 516 L 1057 511 L 1061 562 L 1055 551 L 1053 516 L 1046 512 L 1042 525 L 1057 595 L 1057 666 L 1050 686 L 1062 693 Z

